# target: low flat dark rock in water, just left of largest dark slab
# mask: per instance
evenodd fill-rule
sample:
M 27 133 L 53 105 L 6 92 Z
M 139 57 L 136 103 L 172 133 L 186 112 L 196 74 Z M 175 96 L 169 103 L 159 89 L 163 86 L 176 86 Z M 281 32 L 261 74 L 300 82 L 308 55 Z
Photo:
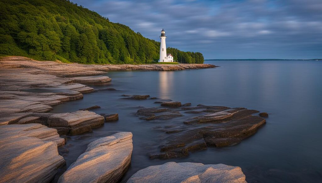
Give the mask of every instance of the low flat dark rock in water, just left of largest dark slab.
M 160 115 L 156 115 L 155 113 L 160 113 Z M 152 107 L 152 108 L 144 108 L 137 110 L 136 113 L 138 116 L 141 116 L 141 119 L 145 120 L 168 120 L 175 117 L 183 116 L 178 111 L 172 111 L 166 108 Z

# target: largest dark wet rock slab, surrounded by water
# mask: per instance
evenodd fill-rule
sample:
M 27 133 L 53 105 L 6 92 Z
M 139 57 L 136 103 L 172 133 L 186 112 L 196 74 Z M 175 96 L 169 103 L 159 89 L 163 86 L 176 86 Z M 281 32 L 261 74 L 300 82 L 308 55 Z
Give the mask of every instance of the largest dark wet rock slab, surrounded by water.
M 150 158 L 178 158 L 210 146 L 232 146 L 256 133 L 266 122 L 264 118 L 251 115 L 257 113 L 256 110 L 223 106 L 197 107 L 215 112 L 190 118 L 185 121 L 185 124 L 189 125 L 166 131 L 169 137 L 166 137 L 166 143 L 160 146 L 161 153 L 152 153 Z

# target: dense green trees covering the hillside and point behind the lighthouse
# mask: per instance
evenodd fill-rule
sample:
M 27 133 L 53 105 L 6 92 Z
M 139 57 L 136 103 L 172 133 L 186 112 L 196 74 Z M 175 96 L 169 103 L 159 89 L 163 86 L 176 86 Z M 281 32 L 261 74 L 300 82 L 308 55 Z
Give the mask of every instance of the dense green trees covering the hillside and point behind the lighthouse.
M 70 1 L 0 2 L 0 54 L 79 63 L 151 63 L 159 58 L 159 46 Z M 200 53 L 169 49 L 182 54 L 183 62 L 204 61 Z

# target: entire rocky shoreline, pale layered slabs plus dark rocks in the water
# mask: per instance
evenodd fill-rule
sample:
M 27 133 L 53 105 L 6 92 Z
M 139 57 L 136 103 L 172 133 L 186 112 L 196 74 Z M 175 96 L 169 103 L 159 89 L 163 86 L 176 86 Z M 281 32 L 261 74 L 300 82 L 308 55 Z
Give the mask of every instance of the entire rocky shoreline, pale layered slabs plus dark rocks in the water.
M 57 147 L 64 146 L 60 135 L 76 135 L 118 120 L 118 114 L 96 114 L 87 109 L 69 113 L 46 113 L 52 105 L 83 98 L 94 89 L 80 83 L 106 83 L 111 70 L 174 71 L 216 67 L 210 64 L 82 65 L 33 61 L 25 57 L 0 59 L 0 176 L 2 182 L 51 182 L 65 164 Z M 28 92 L 46 88 L 49 92 Z M 130 100 L 157 99 L 123 96 Z M 154 102 L 154 101 L 153 101 Z M 151 103 L 153 103 L 151 101 Z M 167 143 L 150 158 L 177 158 L 210 146 L 239 143 L 253 135 L 265 119 L 252 115 L 256 110 L 223 106 L 191 106 L 159 99 L 160 107 L 139 109 L 140 119 L 169 120 L 190 112 L 197 116 L 183 125 L 165 129 Z M 108 125 L 108 124 L 106 124 Z M 218 127 L 221 127 L 218 129 Z M 132 133 L 120 132 L 91 142 L 58 182 L 118 182 L 131 162 Z M 155 174 L 155 172 L 159 172 Z M 170 172 L 169 172 L 170 171 Z M 170 175 L 171 173 L 171 175 Z M 150 166 L 135 173 L 128 182 L 246 182 L 241 168 L 223 164 L 175 163 Z

